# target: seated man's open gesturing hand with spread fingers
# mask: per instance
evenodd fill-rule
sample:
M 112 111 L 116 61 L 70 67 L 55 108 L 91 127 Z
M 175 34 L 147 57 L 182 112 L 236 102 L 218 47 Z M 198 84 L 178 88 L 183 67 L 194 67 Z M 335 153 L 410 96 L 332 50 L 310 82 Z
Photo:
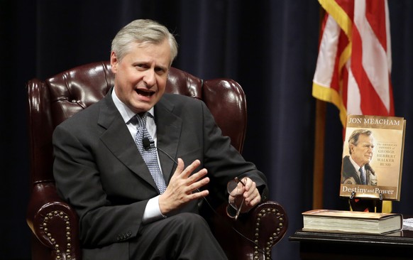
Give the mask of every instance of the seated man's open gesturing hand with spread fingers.
M 166 215 L 172 210 L 177 210 L 189 201 L 198 200 L 209 194 L 208 190 L 197 190 L 209 183 L 209 178 L 204 178 L 207 170 L 203 168 L 191 175 L 200 164 L 201 162 L 199 160 L 195 160 L 185 168 L 184 161 L 182 161 L 181 158 L 178 158 L 178 165 L 175 173 L 172 175 L 165 193 L 159 196 L 160 212 L 162 212 L 163 215 Z

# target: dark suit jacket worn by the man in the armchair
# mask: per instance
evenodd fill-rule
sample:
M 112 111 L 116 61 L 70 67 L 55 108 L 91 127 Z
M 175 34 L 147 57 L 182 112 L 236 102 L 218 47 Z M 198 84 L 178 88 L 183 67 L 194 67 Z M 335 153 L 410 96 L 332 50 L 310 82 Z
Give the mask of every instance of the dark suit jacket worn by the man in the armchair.
M 106 249 L 105 256 L 121 259 L 119 251 L 127 251 L 122 242 L 136 237 L 145 206 L 158 190 L 110 93 L 56 127 L 53 173 L 57 190 L 79 215 L 82 247 Z M 266 200 L 265 175 L 222 136 L 202 101 L 164 94 L 154 114 L 158 147 L 175 161 L 182 158 L 185 166 L 199 159 L 211 179 L 210 195 L 216 195 L 211 200 L 228 200 L 226 183 L 244 175 L 257 183 Z M 169 183 L 175 163 L 158 154 Z M 180 210 L 197 211 L 197 202 Z

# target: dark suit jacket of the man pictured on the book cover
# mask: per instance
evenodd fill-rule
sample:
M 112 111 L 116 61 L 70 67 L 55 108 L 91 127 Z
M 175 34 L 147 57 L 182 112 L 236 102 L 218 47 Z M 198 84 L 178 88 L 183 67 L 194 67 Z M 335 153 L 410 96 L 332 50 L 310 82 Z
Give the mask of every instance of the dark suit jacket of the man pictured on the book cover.
M 366 185 L 377 185 L 377 176 L 373 168 L 367 163 L 365 168 L 365 183 Z M 350 161 L 350 156 L 344 156 L 343 158 L 343 170 L 341 173 L 341 183 L 343 184 L 361 184 L 360 177 L 358 176 L 358 170 L 354 168 L 353 163 Z

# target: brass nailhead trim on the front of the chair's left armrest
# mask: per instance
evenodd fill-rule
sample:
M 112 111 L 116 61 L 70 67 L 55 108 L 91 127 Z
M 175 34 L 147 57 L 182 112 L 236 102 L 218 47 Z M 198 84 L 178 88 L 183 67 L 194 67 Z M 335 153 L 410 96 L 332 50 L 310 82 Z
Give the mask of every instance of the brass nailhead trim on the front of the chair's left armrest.
M 57 210 L 55 210 L 53 212 L 49 212 L 48 215 L 46 215 L 45 218 L 43 219 L 43 223 L 40 226 L 40 229 L 43 229 L 43 231 L 45 232 L 47 237 L 50 239 L 50 242 L 55 245 L 56 260 L 63 259 L 62 250 L 60 249 L 60 245 L 56 244 L 55 238 L 53 237 L 53 235 L 50 232 L 48 232 L 49 231 L 48 222 L 50 220 L 52 220 L 53 218 L 55 218 L 55 217 L 60 217 L 60 219 L 62 219 L 66 224 L 66 241 L 67 241 L 67 244 L 66 244 L 66 250 L 64 251 L 65 255 L 66 255 L 65 259 L 72 259 L 72 255 L 71 255 L 71 253 L 72 253 L 72 251 L 71 251 L 72 244 L 70 244 L 70 242 L 72 241 L 72 238 L 71 238 L 72 233 L 70 232 L 70 222 L 69 222 L 70 219 L 69 219 L 69 217 L 67 216 L 67 214 L 65 212 L 57 211 Z

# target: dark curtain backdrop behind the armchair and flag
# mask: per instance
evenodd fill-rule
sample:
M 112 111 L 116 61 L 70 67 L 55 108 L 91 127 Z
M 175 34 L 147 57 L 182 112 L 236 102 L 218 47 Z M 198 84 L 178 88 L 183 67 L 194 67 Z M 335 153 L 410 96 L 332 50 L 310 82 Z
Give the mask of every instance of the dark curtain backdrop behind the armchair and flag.
M 402 200 L 412 214 L 413 1 L 389 0 L 396 115 L 407 119 Z M 312 208 L 315 99 L 319 38 L 315 0 L 0 0 L 0 259 L 30 259 L 28 139 L 25 84 L 70 67 L 109 60 L 111 39 L 126 23 L 153 18 L 177 34 L 173 66 L 210 79 L 231 77 L 248 101 L 244 156 L 267 176 L 271 200 L 285 206 L 290 227 L 273 259 L 298 259 L 288 241 Z M 345 209 L 338 197 L 342 132 L 327 104 L 324 208 Z

